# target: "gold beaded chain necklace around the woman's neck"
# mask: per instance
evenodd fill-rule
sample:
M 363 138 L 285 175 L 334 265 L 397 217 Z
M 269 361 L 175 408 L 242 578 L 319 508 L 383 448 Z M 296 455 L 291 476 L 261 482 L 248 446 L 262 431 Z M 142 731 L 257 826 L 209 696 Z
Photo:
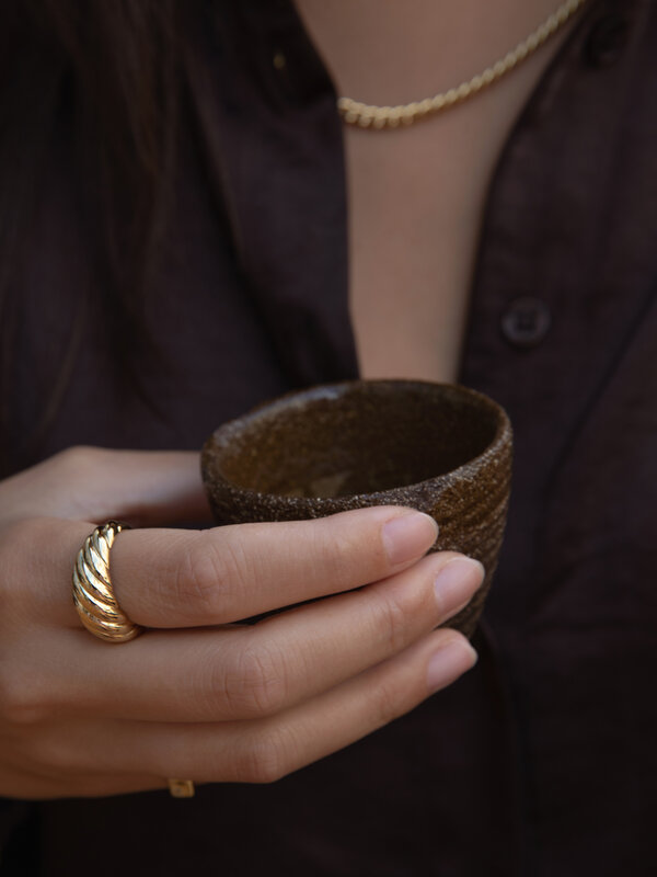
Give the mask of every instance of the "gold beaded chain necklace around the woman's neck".
M 426 98 L 424 101 L 414 101 L 399 106 L 376 106 L 354 101 L 351 98 L 339 98 L 337 101 L 339 114 L 347 125 L 359 125 L 361 128 L 381 130 L 382 128 L 396 128 L 400 125 L 413 125 L 414 122 L 448 110 L 450 106 L 466 101 L 477 92 L 497 82 L 514 67 L 521 64 L 539 46 L 542 46 L 543 43 L 563 27 L 585 2 L 586 0 L 566 0 L 527 39 L 519 43 L 516 48 L 507 52 L 504 58 L 500 58 L 491 67 L 486 67 L 485 70 L 473 76 L 468 82 L 461 82 L 457 88 L 449 89 L 449 91 L 436 94 L 433 98 Z

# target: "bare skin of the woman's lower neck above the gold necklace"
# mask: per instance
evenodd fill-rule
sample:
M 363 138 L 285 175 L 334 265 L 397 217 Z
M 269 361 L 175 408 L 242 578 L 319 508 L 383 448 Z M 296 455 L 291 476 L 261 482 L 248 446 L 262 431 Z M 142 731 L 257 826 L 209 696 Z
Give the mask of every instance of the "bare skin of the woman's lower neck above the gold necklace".
M 341 94 L 393 105 L 469 80 L 560 0 L 296 0 Z

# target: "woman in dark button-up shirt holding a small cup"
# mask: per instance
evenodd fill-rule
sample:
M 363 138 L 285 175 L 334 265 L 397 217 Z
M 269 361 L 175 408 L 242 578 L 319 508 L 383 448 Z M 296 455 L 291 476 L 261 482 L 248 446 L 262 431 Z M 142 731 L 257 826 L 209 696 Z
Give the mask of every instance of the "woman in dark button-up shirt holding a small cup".
M 654 4 L 400 130 L 335 88 L 448 89 L 554 4 L 78 5 L 3 29 L 0 873 L 650 873 Z M 503 402 L 515 498 L 477 667 L 322 760 L 472 665 L 434 628 L 481 570 L 394 509 L 182 532 L 169 449 L 358 369 Z M 113 516 L 120 648 L 69 603 Z

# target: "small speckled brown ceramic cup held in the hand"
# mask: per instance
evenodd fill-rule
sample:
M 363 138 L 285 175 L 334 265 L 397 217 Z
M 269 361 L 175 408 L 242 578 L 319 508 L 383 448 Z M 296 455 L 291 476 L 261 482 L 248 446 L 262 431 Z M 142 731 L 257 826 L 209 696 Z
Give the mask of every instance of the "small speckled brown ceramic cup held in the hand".
M 502 545 L 511 428 L 464 387 L 356 380 L 289 394 L 220 426 L 203 449 L 219 524 L 410 505 L 440 528 L 431 550 L 481 560 L 484 584 L 449 622 L 471 636 Z

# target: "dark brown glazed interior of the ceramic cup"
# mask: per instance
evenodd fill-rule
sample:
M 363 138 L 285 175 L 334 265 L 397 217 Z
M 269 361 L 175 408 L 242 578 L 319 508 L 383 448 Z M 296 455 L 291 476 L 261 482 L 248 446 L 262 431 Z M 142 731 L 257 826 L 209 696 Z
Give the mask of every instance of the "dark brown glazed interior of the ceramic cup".
M 500 409 L 462 387 L 354 381 L 289 395 L 231 421 L 211 465 L 235 487 L 335 498 L 418 483 L 471 464 L 502 430 Z

